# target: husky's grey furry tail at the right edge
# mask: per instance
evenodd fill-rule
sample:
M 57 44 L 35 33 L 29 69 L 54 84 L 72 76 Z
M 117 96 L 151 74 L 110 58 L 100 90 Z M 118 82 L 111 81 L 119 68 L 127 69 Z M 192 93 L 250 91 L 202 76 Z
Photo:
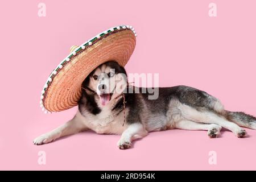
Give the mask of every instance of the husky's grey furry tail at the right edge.
M 225 117 L 239 126 L 256 130 L 256 118 L 253 115 L 225 110 Z

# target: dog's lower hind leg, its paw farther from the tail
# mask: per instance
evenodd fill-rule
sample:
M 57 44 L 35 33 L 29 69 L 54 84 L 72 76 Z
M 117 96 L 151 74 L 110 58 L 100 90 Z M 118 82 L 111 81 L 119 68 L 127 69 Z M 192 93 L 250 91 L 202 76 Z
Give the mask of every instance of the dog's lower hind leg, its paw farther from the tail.
M 206 130 L 210 138 L 217 138 L 220 134 L 221 126 L 216 124 L 204 124 L 182 119 L 175 123 L 175 128 L 183 130 Z

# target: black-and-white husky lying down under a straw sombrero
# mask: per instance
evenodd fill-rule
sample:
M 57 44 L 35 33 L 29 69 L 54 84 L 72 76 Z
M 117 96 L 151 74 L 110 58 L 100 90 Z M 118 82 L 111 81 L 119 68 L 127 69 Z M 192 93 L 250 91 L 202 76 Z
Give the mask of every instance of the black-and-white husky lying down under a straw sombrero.
M 204 91 L 189 86 L 158 88 L 158 98 L 149 100 L 148 92 L 125 92 L 127 88 L 142 90 L 129 86 L 125 76 L 125 69 L 115 61 L 94 69 L 81 85 L 82 96 L 75 117 L 36 138 L 34 144 L 93 130 L 98 134 L 121 135 L 117 146 L 126 149 L 134 139 L 143 138 L 150 131 L 207 130 L 210 138 L 216 138 L 222 127 L 237 137 L 246 135 L 240 126 L 256 130 L 255 117 L 225 110 L 217 98 Z M 115 92 L 118 88 L 121 92 Z

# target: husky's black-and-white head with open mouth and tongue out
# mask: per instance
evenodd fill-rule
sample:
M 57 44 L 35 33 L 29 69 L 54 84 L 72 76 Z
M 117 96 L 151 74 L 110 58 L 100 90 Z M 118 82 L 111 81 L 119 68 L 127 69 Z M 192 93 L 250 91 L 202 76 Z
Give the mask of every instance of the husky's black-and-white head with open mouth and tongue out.
M 102 106 L 122 94 L 126 86 L 126 71 L 116 61 L 101 64 L 82 83 L 82 88 L 89 94 L 95 94 Z

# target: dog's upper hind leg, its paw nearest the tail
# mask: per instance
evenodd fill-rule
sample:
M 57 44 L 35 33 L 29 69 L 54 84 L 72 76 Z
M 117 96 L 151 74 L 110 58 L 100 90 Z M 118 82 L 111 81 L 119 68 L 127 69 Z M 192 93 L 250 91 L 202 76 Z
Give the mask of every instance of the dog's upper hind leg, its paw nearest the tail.
M 225 117 L 211 111 L 199 111 L 187 105 L 180 105 L 181 114 L 184 118 L 199 123 L 214 123 L 232 131 L 237 137 L 245 136 L 246 132 L 236 123 L 228 121 Z

